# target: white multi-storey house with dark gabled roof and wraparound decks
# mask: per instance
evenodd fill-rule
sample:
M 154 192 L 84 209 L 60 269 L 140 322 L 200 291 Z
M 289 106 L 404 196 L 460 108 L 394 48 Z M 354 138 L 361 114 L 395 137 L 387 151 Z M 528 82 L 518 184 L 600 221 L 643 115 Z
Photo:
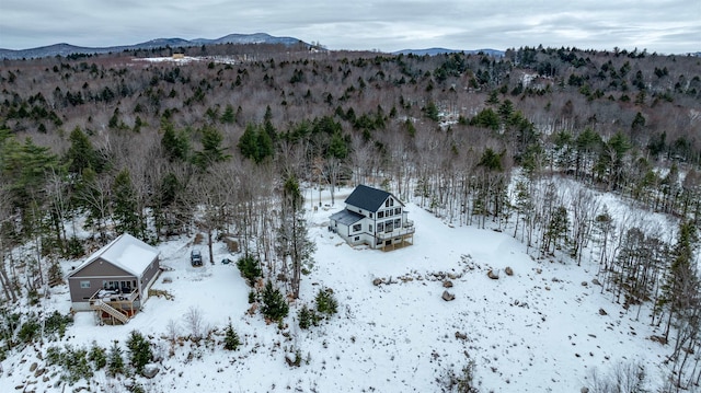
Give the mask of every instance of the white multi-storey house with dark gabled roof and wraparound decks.
M 359 185 L 345 205 L 330 217 L 329 230 L 348 244 L 394 250 L 414 243 L 414 222 L 406 218 L 404 204 L 391 193 Z

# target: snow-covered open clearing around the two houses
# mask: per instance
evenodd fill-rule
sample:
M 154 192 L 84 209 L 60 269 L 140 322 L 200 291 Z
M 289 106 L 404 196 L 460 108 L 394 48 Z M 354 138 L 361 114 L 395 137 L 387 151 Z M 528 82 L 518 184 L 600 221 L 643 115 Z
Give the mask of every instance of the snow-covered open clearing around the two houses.
M 601 293 L 593 284 L 596 265 L 533 261 L 506 233 L 452 227 L 413 204 L 406 209 L 416 226 L 414 245 L 392 252 L 353 248 L 326 230 L 327 217 L 343 199 L 337 196 L 336 207 L 309 213 L 315 264 L 302 277 L 301 299 L 291 304 L 284 331 L 266 325 L 258 313 L 246 313 L 249 287 L 235 265 L 219 263 L 238 255 L 217 243 L 215 265 L 192 267 L 192 239 L 183 238 L 159 245 L 166 270 L 153 288 L 168 291 L 172 300 L 149 299 L 124 326 L 97 326 L 92 313 L 78 313 L 64 342 L 44 344 L 42 350 L 93 340 L 103 347 L 115 339 L 124 345 L 137 330 L 164 356 L 159 374 L 141 380 L 148 392 L 436 392 L 441 390 L 437 379 L 448 370 L 459 373 L 470 360 L 483 392 L 578 392 L 590 370 L 606 373 L 632 360 L 642 360 L 653 381 L 662 378 L 654 365 L 667 348 L 648 339 L 659 333 L 645 310 L 635 321 L 635 311 L 627 312 Z M 490 279 L 490 269 L 498 270 L 499 278 Z M 384 284 L 374 285 L 376 278 Z M 441 299 L 447 280 L 452 301 Z M 311 304 L 322 287 L 333 289 L 338 314 L 300 330 L 297 310 Z M 67 286 L 54 288 L 42 304 L 68 312 Z M 192 310 L 218 328 L 218 342 L 230 320 L 242 339 L 240 349 L 181 342 L 169 356 L 169 325 L 189 334 L 184 320 Z M 296 368 L 285 361 L 295 349 L 304 358 Z M 1 392 L 64 391 L 55 386 L 57 370 L 46 373 L 48 381 L 33 377 L 36 351 L 27 348 L 2 362 Z M 89 389 L 122 391 L 115 383 L 122 381 L 99 373 Z

